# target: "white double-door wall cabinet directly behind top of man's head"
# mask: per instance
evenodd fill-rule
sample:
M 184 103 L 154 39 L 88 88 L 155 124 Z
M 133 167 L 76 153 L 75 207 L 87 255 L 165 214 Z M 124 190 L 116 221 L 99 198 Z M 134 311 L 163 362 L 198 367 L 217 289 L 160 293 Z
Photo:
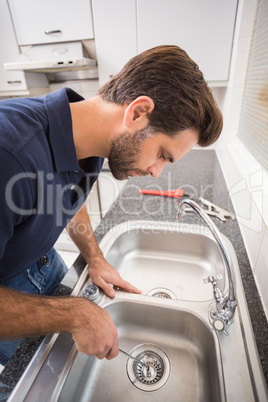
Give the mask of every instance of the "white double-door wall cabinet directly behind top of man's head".
M 100 84 L 145 49 L 185 49 L 209 82 L 229 77 L 237 0 L 92 0 Z

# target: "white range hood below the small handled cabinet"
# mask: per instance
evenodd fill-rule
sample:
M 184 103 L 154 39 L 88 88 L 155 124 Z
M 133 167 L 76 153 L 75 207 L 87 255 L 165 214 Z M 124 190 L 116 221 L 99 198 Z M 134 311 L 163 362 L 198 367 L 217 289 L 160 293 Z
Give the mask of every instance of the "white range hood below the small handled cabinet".
M 97 62 L 89 57 L 82 42 L 22 46 L 19 60 L 4 63 L 4 68 L 45 73 L 52 80 L 52 77 L 60 79 L 61 73 L 64 73 L 64 79 L 72 77 L 73 72 L 79 72 L 80 78 L 98 78 Z

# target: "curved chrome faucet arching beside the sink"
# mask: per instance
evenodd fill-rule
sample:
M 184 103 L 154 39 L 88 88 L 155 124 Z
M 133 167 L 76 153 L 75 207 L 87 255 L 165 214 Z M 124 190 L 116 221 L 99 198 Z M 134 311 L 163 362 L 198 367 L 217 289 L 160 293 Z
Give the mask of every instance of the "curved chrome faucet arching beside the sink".
M 213 223 L 213 221 L 210 219 L 210 217 L 206 214 L 206 212 L 194 201 L 190 199 L 185 199 L 180 202 L 179 204 L 179 211 L 178 211 L 178 218 L 182 215 L 184 215 L 184 209 L 185 207 L 189 206 L 193 209 L 193 211 L 203 220 L 203 222 L 206 224 L 206 226 L 209 228 L 211 231 L 220 251 L 221 255 L 223 257 L 227 275 L 228 275 L 228 296 L 221 302 L 217 304 L 217 310 L 218 313 L 217 318 L 224 321 L 224 328 L 226 324 L 231 324 L 233 321 L 234 313 L 235 313 L 235 308 L 237 305 L 236 297 L 235 297 L 235 280 L 234 280 L 234 269 L 233 269 L 233 262 L 232 259 L 229 255 L 229 252 L 227 248 L 225 247 L 220 232 L 217 228 L 217 226 Z M 215 313 L 213 315 L 211 314 L 213 319 L 215 320 Z M 224 329 L 222 328 L 222 329 Z M 218 328 L 216 328 L 218 329 Z

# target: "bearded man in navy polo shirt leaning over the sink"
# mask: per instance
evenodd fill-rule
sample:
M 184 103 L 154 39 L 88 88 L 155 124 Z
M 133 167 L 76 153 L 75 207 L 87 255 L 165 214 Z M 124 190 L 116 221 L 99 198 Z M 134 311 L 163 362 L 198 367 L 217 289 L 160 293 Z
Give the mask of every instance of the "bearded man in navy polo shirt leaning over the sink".
M 69 331 L 81 352 L 112 359 L 117 331 L 105 310 L 47 296 L 66 272 L 53 245 L 69 222 L 93 282 L 111 297 L 111 285 L 139 293 L 104 260 L 82 204 L 103 158 L 117 179 L 157 177 L 196 144 L 215 142 L 221 113 L 189 56 L 159 46 L 131 59 L 94 98 L 62 89 L 3 101 L 0 114 L 0 338 Z M 0 344 L 0 363 L 14 347 Z

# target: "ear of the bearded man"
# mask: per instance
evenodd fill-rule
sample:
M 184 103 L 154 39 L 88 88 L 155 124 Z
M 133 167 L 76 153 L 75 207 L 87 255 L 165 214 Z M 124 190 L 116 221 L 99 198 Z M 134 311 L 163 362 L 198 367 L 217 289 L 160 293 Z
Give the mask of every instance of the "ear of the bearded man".
M 139 96 L 132 101 L 124 113 L 124 125 L 141 130 L 148 124 L 147 113 L 154 110 L 154 101 L 149 96 Z

